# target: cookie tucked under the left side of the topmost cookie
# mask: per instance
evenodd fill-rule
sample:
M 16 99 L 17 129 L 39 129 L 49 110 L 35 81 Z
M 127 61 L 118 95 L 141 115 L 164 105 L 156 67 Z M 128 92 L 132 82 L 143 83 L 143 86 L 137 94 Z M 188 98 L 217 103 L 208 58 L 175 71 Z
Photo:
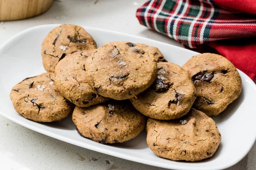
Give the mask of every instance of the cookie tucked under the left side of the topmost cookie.
M 92 52 L 93 50 L 72 52 L 55 67 L 55 84 L 58 91 L 80 107 L 88 107 L 109 100 L 96 94 L 85 79 L 84 62 Z

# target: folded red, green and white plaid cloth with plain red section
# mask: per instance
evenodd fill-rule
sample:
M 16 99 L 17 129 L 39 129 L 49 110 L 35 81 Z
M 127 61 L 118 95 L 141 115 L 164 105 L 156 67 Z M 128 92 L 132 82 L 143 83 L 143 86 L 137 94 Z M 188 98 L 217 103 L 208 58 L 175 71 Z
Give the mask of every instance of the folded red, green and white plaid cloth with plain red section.
M 254 0 L 149 0 L 136 17 L 187 48 L 214 49 L 256 83 L 255 14 Z

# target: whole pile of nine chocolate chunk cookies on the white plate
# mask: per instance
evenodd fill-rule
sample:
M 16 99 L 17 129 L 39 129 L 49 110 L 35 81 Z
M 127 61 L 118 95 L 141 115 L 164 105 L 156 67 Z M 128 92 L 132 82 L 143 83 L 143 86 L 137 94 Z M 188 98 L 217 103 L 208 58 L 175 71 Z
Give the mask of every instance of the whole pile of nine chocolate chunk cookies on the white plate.
M 109 42 L 97 48 L 80 26 L 54 28 L 42 43 L 47 73 L 12 88 L 15 110 L 53 122 L 70 113 L 78 133 L 102 144 L 125 142 L 145 128 L 149 148 L 171 160 L 211 157 L 221 133 L 216 116 L 241 93 L 234 65 L 199 54 L 182 67 L 156 47 Z

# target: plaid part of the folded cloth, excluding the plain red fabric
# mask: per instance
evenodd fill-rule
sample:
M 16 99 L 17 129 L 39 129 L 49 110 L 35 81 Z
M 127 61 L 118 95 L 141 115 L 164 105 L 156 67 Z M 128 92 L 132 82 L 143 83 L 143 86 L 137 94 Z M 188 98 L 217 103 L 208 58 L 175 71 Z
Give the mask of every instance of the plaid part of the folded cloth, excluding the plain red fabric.
M 256 36 L 256 19 L 217 6 L 214 0 L 149 0 L 137 9 L 136 17 L 140 24 L 190 48 L 205 42 Z

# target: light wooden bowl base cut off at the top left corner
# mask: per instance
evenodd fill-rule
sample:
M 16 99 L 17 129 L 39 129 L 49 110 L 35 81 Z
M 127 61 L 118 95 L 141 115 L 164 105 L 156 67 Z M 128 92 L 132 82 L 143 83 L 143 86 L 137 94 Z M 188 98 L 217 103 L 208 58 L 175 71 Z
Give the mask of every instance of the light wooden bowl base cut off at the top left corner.
M 0 20 L 20 20 L 47 11 L 53 0 L 0 0 Z

